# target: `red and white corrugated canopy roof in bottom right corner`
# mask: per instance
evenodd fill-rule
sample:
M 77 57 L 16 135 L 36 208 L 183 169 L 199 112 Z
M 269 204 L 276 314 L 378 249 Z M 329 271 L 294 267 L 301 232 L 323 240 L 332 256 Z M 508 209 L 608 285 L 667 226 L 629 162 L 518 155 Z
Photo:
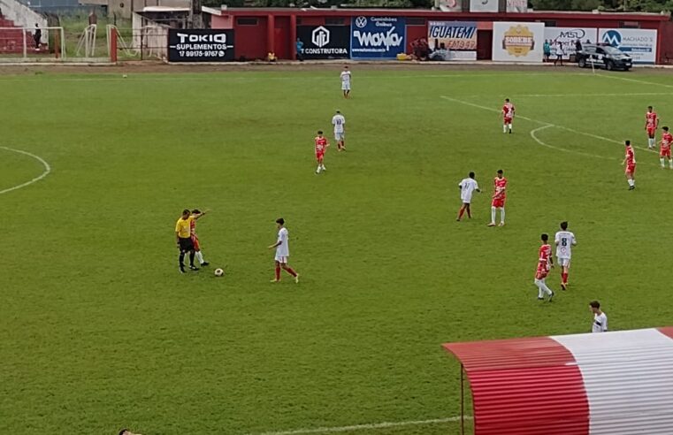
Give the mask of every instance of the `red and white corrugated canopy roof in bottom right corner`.
M 475 435 L 673 435 L 673 327 L 443 346 Z

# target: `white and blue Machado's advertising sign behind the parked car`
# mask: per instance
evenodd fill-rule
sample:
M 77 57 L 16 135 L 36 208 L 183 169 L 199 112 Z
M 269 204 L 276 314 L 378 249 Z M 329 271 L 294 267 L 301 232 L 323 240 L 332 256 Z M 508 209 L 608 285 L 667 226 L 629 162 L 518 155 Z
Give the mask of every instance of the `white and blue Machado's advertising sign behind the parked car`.
M 639 28 L 601 28 L 598 39 L 631 56 L 633 64 L 656 63 L 656 30 Z

